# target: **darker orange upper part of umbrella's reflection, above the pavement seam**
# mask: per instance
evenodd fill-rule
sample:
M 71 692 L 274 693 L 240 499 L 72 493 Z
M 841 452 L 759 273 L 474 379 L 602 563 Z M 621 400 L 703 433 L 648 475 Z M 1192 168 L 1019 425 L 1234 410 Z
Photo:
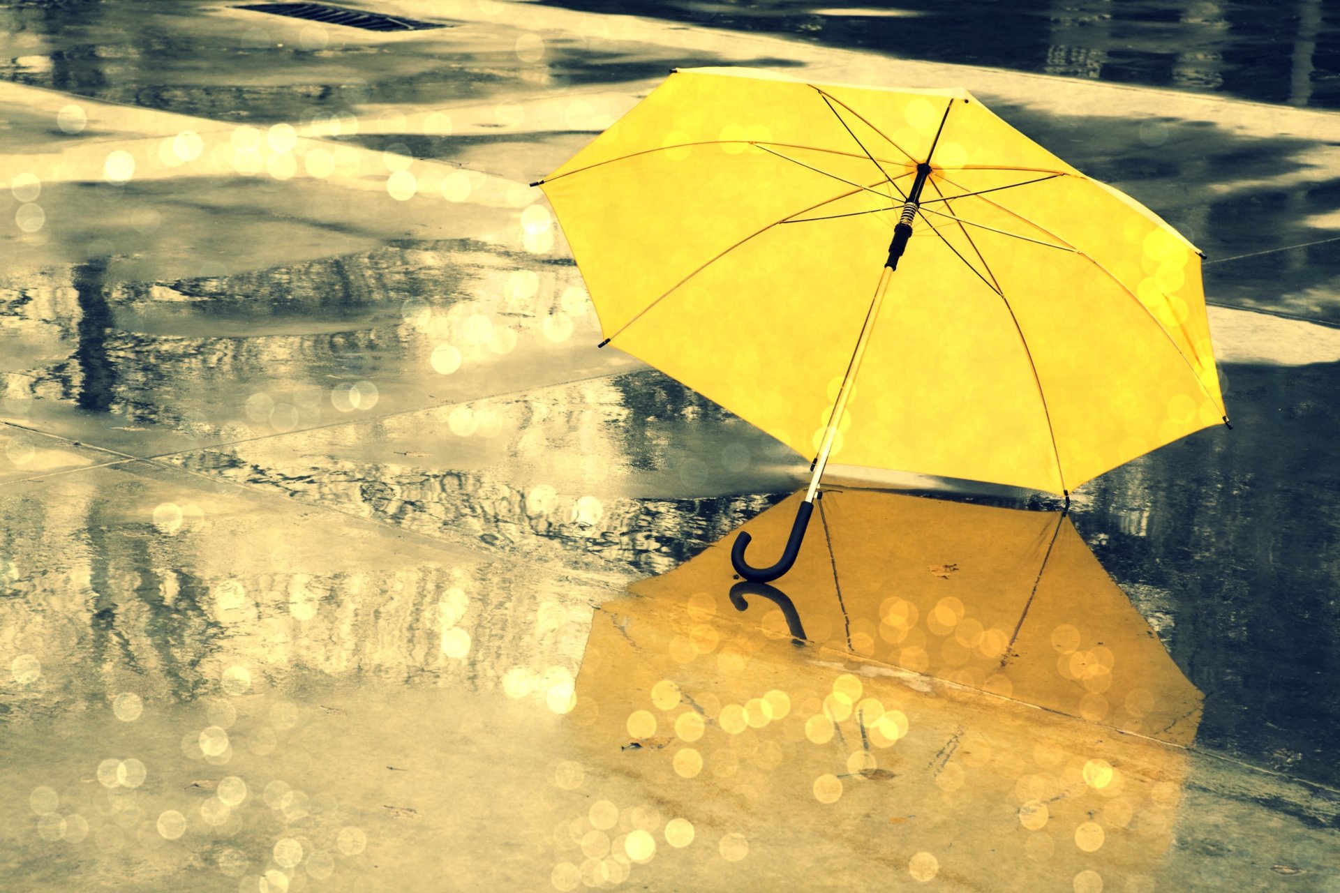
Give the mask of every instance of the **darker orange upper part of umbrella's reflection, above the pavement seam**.
M 746 529 L 780 536 L 800 497 Z M 783 588 L 724 584 L 717 545 L 632 592 L 710 596 L 779 636 L 1190 743 L 1201 694 L 1064 513 L 874 490 L 825 490 L 817 505 L 824 536 Z

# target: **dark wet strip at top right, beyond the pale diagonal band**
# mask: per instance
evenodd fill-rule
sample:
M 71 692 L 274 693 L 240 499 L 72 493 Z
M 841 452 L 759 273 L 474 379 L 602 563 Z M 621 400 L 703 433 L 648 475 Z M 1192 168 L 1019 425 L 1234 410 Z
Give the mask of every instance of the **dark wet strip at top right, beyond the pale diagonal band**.
M 1340 103 L 1340 17 L 1321 0 L 1000 0 L 823 4 L 545 0 L 797 37 L 904 59 L 1174 87 L 1257 102 Z

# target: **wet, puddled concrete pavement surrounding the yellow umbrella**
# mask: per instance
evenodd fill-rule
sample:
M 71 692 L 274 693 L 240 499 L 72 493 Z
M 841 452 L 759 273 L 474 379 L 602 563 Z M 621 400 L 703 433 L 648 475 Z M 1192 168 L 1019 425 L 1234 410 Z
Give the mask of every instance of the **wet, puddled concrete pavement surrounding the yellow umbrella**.
M 1290 248 L 1333 234 L 1333 115 L 520 4 L 401 35 L 0 17 L 7 889 L 1340 889 L 1340 253 Z M 784 580 L 797 647 L 757 594 L 674 582 L 805 462 L 594 349 L 525 183 L 708 63 L 962 84 L 1210 254 L 1234 430 L 1071 513 L 1159 684 L 1106 639 L 1048 636 L 1063 677 L 1020 691 L 938 663 L 989 663 L 1006 613 L 963 620 L 1004 572 L 896 652 L 880 600 L 866 648 L 855 602 Z M 1170 687 L 1203 698 L 1185 738 L 1115 731 Z

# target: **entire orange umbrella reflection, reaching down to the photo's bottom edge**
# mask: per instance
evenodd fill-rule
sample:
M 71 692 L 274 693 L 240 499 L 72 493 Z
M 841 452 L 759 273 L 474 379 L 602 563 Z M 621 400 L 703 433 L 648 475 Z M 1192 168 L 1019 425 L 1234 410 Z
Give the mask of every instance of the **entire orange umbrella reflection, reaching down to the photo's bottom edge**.
M 1154 889 L 1201 695 L 1071 523 L 859 490 L 817 511 L 828 545 L 801 554 L 789 598 L 724 580 L 714 546 L 592 621 L 574 720 L 591 762 L 619 754 L 685 817 L 667 841 L 686 821 L 706 841 L 678 886 Z M 603 850 L 576 849 L 563 870 L 600 880 L 583 856 Z

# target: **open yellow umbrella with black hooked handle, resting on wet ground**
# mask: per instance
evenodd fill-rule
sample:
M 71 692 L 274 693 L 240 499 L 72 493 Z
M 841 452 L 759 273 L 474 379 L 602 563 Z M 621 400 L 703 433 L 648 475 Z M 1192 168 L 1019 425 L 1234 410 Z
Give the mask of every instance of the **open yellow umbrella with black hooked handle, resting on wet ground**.
M 1068 499 L 1227 422 L 1199 252 L 963 90 L 679 70 L 537 185 L 602 347 L 815 457 L 750 580 L 829 458 Z

